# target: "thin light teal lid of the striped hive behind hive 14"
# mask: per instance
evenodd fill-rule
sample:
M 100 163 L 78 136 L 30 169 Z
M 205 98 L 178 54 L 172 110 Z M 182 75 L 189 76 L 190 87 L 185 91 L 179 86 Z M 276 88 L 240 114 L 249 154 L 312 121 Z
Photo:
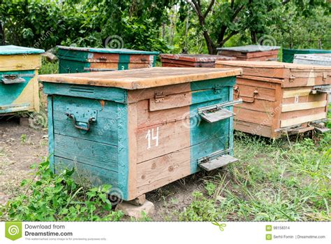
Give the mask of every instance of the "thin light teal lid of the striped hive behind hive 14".
M 58 45 L 57 48 L 64 50 L 82 51 L 82 52 L 117 53 L 124 55 L 159 55 L 159 52 L 147 52 L 141 50 L 126 49 L 126 48 L 79 48 L 79 47 L 66 47 L 63 45 Z

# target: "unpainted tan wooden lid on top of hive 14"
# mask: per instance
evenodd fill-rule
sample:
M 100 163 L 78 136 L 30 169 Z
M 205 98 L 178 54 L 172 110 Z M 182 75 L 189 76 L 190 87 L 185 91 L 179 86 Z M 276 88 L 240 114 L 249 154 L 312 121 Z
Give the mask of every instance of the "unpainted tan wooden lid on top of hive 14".
M 43 75 L 39 76 L 39 80 L 43 82 L 143 89 L 198 80 L 238 76 L 240 74 L 242 74 L 242 69 L 156 67 L 126 71 L 105 71 L 100 73 Z

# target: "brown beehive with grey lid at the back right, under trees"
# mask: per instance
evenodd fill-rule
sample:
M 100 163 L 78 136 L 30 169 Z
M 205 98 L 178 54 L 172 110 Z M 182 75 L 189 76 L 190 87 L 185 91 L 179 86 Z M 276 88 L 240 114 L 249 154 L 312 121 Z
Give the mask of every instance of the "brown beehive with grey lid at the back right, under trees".
M 217 48 L 219 55 L 235 57 L 243 61 L 277 61 L 280 47 L 269 45 L 244 45 L 232 48 Z

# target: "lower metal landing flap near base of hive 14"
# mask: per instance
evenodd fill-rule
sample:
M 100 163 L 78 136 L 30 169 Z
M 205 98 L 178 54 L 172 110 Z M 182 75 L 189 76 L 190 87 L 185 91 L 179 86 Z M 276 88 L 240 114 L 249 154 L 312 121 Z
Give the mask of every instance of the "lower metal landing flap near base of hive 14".
M 222 166 L 226 166 L 227 164 L 237 162 L 238 159 L 228 155 L 230 150 L 219 150 L 213 152 L 211 155 L 207 157 L 203 157 L 198 159 L 198 166 L 203 168 L 205 171 L 212 171 L 216 168 L 220 168 Z

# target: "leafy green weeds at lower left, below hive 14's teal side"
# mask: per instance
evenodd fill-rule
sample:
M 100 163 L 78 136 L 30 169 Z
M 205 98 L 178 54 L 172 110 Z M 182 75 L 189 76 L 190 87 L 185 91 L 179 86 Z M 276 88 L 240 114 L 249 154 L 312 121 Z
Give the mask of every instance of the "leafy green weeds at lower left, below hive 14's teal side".
M 23 180 L 24 194 L 1 207 L 4 220 L 18 221 L 119 221 L 107 198 L 110 185 L 87 188 L 77 185 L 74 170 L 55 175 L 49 162 L 39 164 L 32 180 Z

